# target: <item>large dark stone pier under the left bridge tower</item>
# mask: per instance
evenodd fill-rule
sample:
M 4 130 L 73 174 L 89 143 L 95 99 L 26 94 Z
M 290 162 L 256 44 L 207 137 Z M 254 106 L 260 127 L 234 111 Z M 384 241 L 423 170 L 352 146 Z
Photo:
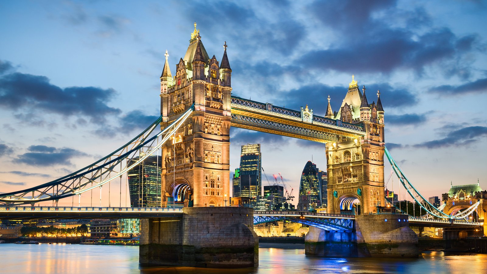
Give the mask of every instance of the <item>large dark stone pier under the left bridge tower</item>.
M 253 267 L 259 240 L 253 209 L 184 208 L 183 217 L 141 219 L 141 266 Z

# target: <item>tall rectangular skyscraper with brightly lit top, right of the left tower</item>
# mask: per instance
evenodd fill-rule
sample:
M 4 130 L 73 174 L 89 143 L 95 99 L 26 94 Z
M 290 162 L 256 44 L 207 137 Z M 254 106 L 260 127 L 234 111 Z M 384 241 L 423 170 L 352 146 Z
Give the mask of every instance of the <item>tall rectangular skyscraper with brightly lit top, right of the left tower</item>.
M 240 154 L 240 195 L 252 199 L 262 195 L 261 144 L 242 146 Z

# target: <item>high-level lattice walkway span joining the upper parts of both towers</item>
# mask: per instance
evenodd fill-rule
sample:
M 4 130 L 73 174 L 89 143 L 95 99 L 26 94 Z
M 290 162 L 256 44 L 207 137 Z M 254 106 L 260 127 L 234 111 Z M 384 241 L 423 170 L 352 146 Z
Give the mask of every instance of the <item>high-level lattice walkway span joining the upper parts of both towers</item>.
M 338 136 L 357 138 L 365 135 L 359 125 L 313 115 L 305 121 L 300 111 L 281 108 L 232 96 L 231 126 L 295 137 L 320 143 L 336 142 Z

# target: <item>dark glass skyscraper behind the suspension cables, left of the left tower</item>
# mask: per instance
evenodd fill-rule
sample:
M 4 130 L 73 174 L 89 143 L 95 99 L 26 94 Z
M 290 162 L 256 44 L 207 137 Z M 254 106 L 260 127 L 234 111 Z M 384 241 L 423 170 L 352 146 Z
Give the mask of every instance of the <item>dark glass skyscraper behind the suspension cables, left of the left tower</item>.
M 139 160 L 129 160 L 129 166 Z M 161 202 L 160 156 L 149 156 L 129 171 L 131 207 L 160 206 Z

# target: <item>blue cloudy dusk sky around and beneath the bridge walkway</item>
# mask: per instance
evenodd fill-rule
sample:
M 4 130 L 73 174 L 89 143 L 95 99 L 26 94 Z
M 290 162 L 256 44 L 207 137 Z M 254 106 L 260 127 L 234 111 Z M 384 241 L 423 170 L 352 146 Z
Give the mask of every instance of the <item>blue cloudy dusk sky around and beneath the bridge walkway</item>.
M 380 90 L 386 147 L 424 196 L 486 189 L 486 18 L 475 0 L 0 1 L 0 192 L 67 175 L 150 125 L 164 53 L 175 72 L 195 21 L 209 56 L 227 42 L 232 94 L 324 116 L 354 74 L 370 102 Z M 270 183 L 281 173 L 294 194 L 308 160 L 326 169 L 323 144 L 237 128 L 230 141 L 231 170 L 241 145 L 261 143 Z

